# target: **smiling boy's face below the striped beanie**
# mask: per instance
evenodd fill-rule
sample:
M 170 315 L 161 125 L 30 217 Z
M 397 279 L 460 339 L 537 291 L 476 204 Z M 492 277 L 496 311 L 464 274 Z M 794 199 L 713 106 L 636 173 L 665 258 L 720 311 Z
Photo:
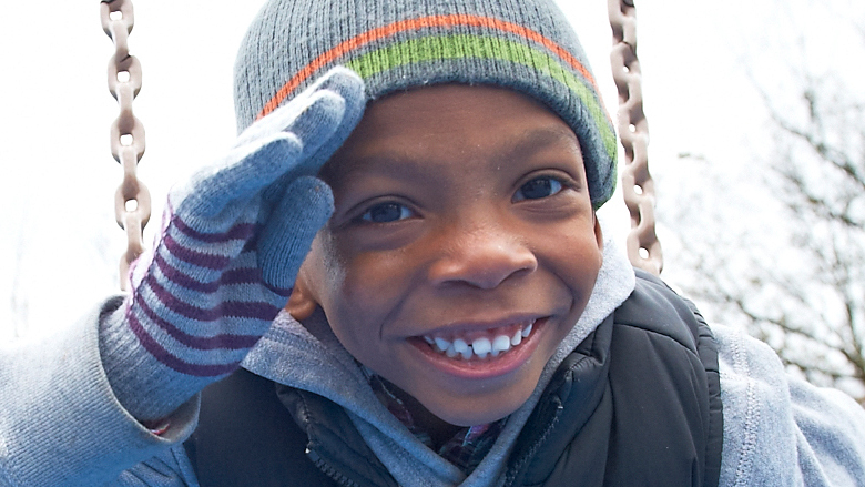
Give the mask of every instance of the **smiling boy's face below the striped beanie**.
M 370 103 L 320 175 L 336 211 L 293 301 L 448 423 L 516 410 L 601 265 L 573 132 L 510 90 L 423 88 Z

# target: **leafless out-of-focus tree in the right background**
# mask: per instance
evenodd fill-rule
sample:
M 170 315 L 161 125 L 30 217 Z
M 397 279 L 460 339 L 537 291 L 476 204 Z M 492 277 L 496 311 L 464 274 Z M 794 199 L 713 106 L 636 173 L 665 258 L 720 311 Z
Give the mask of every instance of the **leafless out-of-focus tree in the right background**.
M 709 180 L 660 212 L 681 242 L 669 261 L 715 321 L 865 405 L 865 98 L 837 71 L 792 71 L 792 95 L 760 90 L 774 151 L 744 180 L 718 183 L 718 163 L 681 155 Z

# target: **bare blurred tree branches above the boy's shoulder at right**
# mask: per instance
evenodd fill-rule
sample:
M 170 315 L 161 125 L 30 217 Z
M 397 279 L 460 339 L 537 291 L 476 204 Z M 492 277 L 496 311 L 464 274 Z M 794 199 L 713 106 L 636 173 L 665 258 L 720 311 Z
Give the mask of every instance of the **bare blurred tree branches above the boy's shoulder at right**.
M 827 115 L 841 111 L 832 103 L 863 112 L 844 97 L 817 92 L 818 87 L 806 81 L 800 92 L 804 125 L 783 116 L 763 92 L 778 129 L 777 153 L 788 155 L 783 163 L 767 164 L 772 170 L 766 177 L 774 177 L 778 202 L 791 222 L 798 222 L 790 225 L 788 242 L 796 262 L 778 266 L 754 254 L 746 257 L 747 265 L 733 267 L 730 262 L 741 262 L 741 256 L 718 244 L 721 239 L 709 237 L 685 246 L 700 275 L 694 280 L 699 284 L 685 291 L 744 322 L 806 377 L 832 384 L 856 381 L 865 390 L 865 329 L 858 322 L 865 316 L 865 116 L 851 119 L 858 125 L 838 125 L 852 122 Z M 858 142 L 830 142 L 851 132 Z M 861 390 L 851 394 L 865 404 Z

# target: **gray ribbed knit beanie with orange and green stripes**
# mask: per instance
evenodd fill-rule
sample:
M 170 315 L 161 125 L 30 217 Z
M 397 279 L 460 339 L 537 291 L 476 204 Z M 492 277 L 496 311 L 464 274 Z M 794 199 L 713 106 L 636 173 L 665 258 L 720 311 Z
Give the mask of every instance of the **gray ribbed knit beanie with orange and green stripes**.
M 334 65 L 370 100 L 436 83 L 533 97 L 580 140 L 594 207 L 615 186 L 615 132 L 586 54 L 553 0 L 268 0 L 235 64 L 240 131 Z

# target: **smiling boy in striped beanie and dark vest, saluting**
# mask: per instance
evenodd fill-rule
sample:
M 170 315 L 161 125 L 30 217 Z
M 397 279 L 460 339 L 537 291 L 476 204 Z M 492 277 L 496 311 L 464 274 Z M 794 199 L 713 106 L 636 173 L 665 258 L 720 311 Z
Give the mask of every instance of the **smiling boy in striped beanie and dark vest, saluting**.
M 0 483 L 862 485 L 855 403 L 603 240 L 583 58 L 546 0 L 268 2 L 131 295 L 3 355 Z

